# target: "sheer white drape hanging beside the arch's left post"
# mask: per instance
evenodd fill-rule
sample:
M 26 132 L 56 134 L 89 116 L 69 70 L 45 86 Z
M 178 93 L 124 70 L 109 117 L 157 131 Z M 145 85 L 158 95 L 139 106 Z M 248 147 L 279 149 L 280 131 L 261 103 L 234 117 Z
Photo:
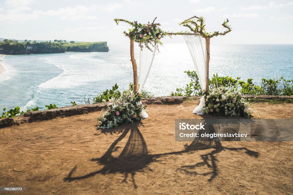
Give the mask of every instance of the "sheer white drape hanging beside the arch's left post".
M 151 49 L 153 50 L 153 52 L 145 47 L 143 47 L 140 50 L 138 92 L 142 91 L 142 88 L 144 87 L 144 84 L 147 81 L 147 77 L 149 76 L 149 71 L 151 70 L 151 65 L 153 64 L 153 60 L 154 60 L 154 57 L 156 54 L 156 48 L 151 47 Z M 147 117 L 149 117 L 149 115 L 147 114 L 145 109 L 142 110 L 141 114 L 142 114 L 143 119 L 146 119 Z

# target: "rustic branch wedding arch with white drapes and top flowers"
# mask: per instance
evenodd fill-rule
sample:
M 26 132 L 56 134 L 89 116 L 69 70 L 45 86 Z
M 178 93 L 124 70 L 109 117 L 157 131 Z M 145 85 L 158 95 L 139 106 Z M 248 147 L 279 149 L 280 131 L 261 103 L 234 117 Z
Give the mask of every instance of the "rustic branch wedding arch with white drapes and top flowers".
M 219 31 L 214 31 L 211 33 L 205 30 L 205 18 L 193 16 L 179 23 L 188 27 L 191 32 L 185 31 L 178 33 L 168 33 L 161 30 L 158 26 L 159 23 L 154 23 L 156 18 L 152 23 L 140 24 L 137 21 L 130 22 L 124 19 L 114 19 L 118 24 L 120 21 L 132 25 L 132 29 L 129 29 L 129 33 L 124 31 L 126 37 L 130 38 L 130 57 L 133 68 L 133 85 L 134 93 L 141 92 L 151 69 L 152 62 L 158 46 L 162 45 L 161 38 L 164 36 L 171 35 L 183 35 L 184 40 L 190 51 L 193 64 L 195 66 L 195 71 L 199 78 L 199 82 L 203 92 L 209 90 L 209 60 L 210 60 L 210 38 L 216 37 L 218 35 L 226 35 L 231 32 L 231 27 L 228 25 L 229 20 L 226 19 L 222 23 L 222 26 L 226 30 L 222 33 Z M 137 78 L 137 64 L 134 58 L 134 42 L 139 43 L 140 47 L 140 60 L 139 60 L 139 79 Z M 139 86 L 139 88 L 138 88 Z M 203 98 L 203 97 L 202 97 Z M 203 104 L 200 104 L 193 110 L 195 114 L 203 114 Z

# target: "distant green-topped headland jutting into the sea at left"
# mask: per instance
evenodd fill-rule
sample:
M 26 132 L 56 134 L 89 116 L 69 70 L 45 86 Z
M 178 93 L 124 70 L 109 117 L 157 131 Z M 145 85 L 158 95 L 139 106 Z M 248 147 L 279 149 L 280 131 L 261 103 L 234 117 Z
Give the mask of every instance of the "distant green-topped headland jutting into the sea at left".
M 107 42 L 18 42 L 3 40 L 0 42 L 0 54 L 45 54 L 70 52 L 108 52 Z

